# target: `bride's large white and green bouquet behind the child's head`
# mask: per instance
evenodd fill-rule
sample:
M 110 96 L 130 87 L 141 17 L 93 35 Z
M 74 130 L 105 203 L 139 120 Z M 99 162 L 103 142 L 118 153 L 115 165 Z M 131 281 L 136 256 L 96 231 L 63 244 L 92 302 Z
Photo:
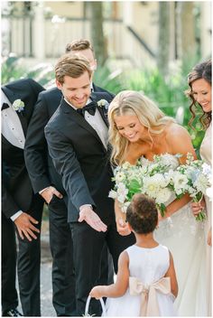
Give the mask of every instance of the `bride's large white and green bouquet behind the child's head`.
M 113 179 L 116 185 L 109 197 L 117 199 L 125 212 L 134 194 L 143 193 L 155 200 L 164 216 L 165 203 L 172 195 L 170 159 L 170 154 L 154 155 L 152 162 L 141 158 L 136 165 L 125 163 L 117 167 Z

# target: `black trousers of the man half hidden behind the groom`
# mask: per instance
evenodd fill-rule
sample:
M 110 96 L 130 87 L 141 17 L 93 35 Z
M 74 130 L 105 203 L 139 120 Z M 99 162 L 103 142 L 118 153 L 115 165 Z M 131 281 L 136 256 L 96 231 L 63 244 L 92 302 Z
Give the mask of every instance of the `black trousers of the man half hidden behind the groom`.
M 63 200 L 53 195 L 48 209 L 52 256 L 52 304 L 58 316 L 76 316 L 76 283 L 67 207 Z

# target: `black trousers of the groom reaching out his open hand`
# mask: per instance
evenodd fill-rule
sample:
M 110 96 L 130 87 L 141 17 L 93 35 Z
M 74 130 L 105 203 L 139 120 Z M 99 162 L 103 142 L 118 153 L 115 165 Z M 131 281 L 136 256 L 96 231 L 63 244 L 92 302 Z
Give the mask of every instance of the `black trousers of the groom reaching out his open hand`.
M 113 220 L 107 231 L 97 232 L 86 222 L 70 223 L 73 239 L 74 264 L 76 269 L 76 296 L 78 315 L 85 312 L 85 304 L 92 287 L 100 285 L 101 254 L 105 243 L 113 257 L 115 271 L 120 253 L 135 242 L 134 235 L 122 237 L 116 231 L 116 221 Z M 107 262 L 107 259 L 106 259 Z M 101 315 L 98 301 L 92 299 L 89 314 Z

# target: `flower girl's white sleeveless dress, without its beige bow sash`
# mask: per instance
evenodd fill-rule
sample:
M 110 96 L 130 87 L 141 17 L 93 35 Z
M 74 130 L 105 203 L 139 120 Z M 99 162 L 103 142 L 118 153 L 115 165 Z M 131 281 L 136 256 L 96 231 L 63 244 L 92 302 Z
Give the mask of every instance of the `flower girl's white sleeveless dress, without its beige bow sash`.
M 170 267 L 169 250 L 162 245 L 156 248 L 140 248 L 136 245 L 125 249 L 129 256 L 130 277 L 136 277 L 143 285 L 149 286 L 159 281 Z M 130 278 L 131 279 L 131 278 Z M 159 316 L 174 316 L 174 296 L 156 291 Z M 125 295 L 107 298 L 106 316 L 140 316 L 142 295 L 130 295 L 129 288 Z

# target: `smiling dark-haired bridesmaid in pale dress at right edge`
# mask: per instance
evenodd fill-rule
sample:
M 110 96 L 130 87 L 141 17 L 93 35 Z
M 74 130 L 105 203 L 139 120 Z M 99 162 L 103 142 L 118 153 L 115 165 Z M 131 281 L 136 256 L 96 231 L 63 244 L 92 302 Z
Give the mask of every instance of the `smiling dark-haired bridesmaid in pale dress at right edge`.
M 199 114 L 199 121 L 206 133 L 200 145 L 199 154 L 201 158 L 211 165 L 211 60 L 199 63 L 188 75 L 188 84 L 190 86 L 187 92 L 191 99 L 190 112 L 191 118 L 189 125 Z M 209 198 L 205 196 L 200 203 L 192 203 L 191 208 L 196 215 L 200 209 L 207 211 L 206 237 L 207 237 L 207 261 L 208 261 L 208 315 L 211 316 L 211 219 L 212 207 Z

